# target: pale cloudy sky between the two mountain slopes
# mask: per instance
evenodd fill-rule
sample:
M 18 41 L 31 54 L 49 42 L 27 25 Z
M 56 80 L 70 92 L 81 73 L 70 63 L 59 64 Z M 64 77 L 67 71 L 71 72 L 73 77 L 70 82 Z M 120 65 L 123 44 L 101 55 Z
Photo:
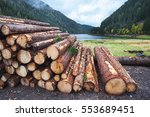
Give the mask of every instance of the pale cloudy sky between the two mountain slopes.
M 53 9 L 81 24 L 100 23 L 127 0 L 42 0 Z

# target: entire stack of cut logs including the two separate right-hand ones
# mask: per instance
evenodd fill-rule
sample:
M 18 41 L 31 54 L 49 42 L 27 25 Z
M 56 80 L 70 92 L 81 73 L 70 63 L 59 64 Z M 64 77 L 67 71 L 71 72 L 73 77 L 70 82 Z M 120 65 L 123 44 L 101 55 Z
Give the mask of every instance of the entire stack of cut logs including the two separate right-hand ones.
M 108 94 L 135 92 L 137 84 L 110 54 L 90 48 L 48 23 L 0 16 L 0 89 L 19 84 L 63 93 L 100 91 L 101 73 Z

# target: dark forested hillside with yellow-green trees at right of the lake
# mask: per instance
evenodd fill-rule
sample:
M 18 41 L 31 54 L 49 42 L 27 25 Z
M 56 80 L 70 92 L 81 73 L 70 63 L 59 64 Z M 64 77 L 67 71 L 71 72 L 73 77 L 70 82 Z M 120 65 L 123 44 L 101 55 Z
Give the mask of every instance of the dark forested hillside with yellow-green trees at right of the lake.
M 150 0 L 128 0 L 93 33 L 150 34 Z

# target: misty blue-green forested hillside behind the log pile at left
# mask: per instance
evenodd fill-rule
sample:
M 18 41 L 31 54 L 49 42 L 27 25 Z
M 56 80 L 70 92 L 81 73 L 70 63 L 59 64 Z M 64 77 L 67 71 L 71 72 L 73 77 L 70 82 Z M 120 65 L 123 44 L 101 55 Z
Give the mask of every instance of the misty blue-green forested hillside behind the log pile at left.
M 89 33 L 92 28 L 76 23 L 40 0 L 1 0 L 0 15 L 48 22 L 69 33 Z

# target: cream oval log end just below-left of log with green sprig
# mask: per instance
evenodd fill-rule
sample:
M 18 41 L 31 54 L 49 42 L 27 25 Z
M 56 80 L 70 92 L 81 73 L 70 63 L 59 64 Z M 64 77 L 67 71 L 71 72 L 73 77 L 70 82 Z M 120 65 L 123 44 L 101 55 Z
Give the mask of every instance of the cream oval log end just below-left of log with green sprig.
M 41 78 L 42 78 L 42 80 L 47 81 L 47 80 L 49 80 L 51 77 L 52 77 L 52 71 L 51 71 L 51 69 L 50 69 L 49 67 L 44 68 L 44 69 L 41 71 Z

